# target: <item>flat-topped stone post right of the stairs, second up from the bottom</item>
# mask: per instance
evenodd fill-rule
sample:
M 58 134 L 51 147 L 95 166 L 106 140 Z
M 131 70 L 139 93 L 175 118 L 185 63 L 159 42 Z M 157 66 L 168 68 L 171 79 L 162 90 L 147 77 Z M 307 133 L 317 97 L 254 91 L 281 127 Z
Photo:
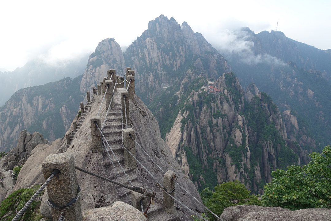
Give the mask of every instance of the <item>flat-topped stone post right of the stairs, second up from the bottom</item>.
M 124 146 L 133 156 L 136 156 L 136 145 L 134 140 L 130 137 L 131 135 L 134 138 L 134 130 L 132 128 L 123 129 L 122 134 Z M 137 161 L 128 153 L 128 151 L 124 149 L 124 166 L 126 168 L 136 168 Z

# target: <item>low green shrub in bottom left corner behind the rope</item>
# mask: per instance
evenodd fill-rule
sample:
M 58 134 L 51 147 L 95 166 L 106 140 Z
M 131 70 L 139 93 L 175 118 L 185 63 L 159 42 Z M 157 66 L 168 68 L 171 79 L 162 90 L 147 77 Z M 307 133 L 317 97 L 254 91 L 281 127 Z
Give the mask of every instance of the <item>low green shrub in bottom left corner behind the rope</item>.
M 11 221 L 16 213 L 20 211 L 25 203 L 37 192 L 40 188 L 40 185 L 36 185 L 30 189 L 20 189 L 10 194 L 4 201 L 2 201 L 0 206 L 0 221 Z M 23 215 L 23 221 L 32 221 L 34 210 L 40 207 L 41 196 L 43 192 L 40 193 L 27 208 Z M 39 199 L 38 199 L 39 198 Z

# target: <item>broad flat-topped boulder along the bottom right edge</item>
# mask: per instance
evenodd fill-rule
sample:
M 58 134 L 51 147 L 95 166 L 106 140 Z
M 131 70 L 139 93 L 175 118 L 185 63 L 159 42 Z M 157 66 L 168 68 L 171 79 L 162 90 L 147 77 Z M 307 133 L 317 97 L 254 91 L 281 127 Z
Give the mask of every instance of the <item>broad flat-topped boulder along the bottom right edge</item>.
M 224 209 L 223 221 L 330 221 L 331 209 L 300 209 L 291 211 L 281 207 L 252 205 L 230 206 Z

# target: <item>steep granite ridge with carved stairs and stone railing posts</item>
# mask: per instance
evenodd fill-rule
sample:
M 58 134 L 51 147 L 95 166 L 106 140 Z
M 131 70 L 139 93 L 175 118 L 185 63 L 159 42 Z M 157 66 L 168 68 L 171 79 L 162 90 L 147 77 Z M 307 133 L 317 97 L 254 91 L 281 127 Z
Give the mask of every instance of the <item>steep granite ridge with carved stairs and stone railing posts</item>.
M 115 75 L 110 75 L 110 72 L 115 73 L 115 70 L 109 70 L 108 78 L 104 80 L 105 96 L 102 93 L 101 84 L 98 84 L 98 88 L 94 88 L 94 90 L 97 89 L 98 95 L 93 91 L 91 99 L 89 96 L 87 98 L 87 104 L 81 105 L 81 115 L 77 115 L 71 123 L 65 138 L 58 145 L 56 153 L 72 154 L 76 167 L 131 188 L 133 186 L 142 187 L 148 193 L 155 192 L 154 204 L 150 206 L 147 213 L 150 221 L 192 220 L 191 215 L 197 215 L 195 211 L 205 212 L 201 197 L 188 176 L 183 174 L 179 164 L 172 157 L 169 147 L 161 138 L 155 117 L 135 95 L 134 72 L 128 68 L 126 70 L 131 73 L 131 75 L 126 73 L 128 89 L 124 87 L 124 83 L 113 84 L 118 76 L 114 77 Z M 129 131 L 129 134 L 125 134 L 125 131 Z M 129 155 L 128 150 L 124 149 L 126 147 L 135 154 L 136 158 Z M 46 157 L 43 155 L 41 162 Z M 18 186 L 14 189 L 20 189 L 22 185 L 31 183 L 27 182 L 28 180 L 35 179 L 35 177 L 24 176 L 24 174 L 28 173 L 27 171 L 30 171 L 36 162 L 39 165 L 41 163 L 40 160 L 31 162 L 29 159 L 26 161 L 26 164 L 30 165 L 29 168 L 23 167 L 20 172 L 22 176 L 19 175 L 17 180 L 17 184 L 21 187 Z M 31 157 L 31 159 L 33 158 Z M 41 167 L 38 169 L 40 170 Z M 167 186 L 169 182 L 166 182 L 166 177 L 169 173 L 173 174 L 175 178 L 170 177 L 168 180 L 171 185 Z M 42 176 L 41 174 L 40 172 L 35 176 L 39 178 Z M 120 186 L 83 172 L 77 171 L 76 174 L 78 185 L 81 188 L 79 203 L 82 211 L 87 211 L 87 217 L 96 212 L 101 214 L 102 211 L 112 207 L 111 205 L 116 201 L 128 204 L 132 202 L 132 205 L 137 201 L 137 193 L 133 194 L 127 189 L 122 190 Z M 51 192 L 49 192 L 51 190 L 47 189 L 47 191 L 51 197 Z M 172 199 L 165 200 L 165 191 L 171 194 L 176 202 L 172 201 L 167 204 Z M 143 198 L 143 194 L 140 196 Z M 187 198 L 191 196 L 195 200 L 188 201 Z M 42 203 L 47 201 L 45 197 L 43 196 Z M 166 195 L 166 197 L 168 196 Z M 149 196 L 143 200 L 144 210 L 148 200 L 151 200 Z M 141 212 L 140 203 L 134 207 Z M 94 209 L 93 212 L 91 212 L 92 209 Z M 47 204 L 40 210 L 42 214 L 50 212 Z

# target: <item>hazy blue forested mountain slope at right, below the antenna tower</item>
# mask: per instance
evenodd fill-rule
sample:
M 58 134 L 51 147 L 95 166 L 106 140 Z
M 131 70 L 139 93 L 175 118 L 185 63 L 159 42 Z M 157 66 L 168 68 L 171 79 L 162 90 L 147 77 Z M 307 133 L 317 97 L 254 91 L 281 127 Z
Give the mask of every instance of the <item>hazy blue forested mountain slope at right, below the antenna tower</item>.
M 261 59 L 249 63 L 242 53 L 228 57 L 242 85 L 254 82 L 281 112 L 296 113 L 298 127 L 315 137 L 318 150 L 331 144 L 331 84 L 326 80 L 331 71 L 330 51 L 294 41 L 282 32 L 243 31 L 247 32 L 245 40 L 253 42 L 251 56 Z

